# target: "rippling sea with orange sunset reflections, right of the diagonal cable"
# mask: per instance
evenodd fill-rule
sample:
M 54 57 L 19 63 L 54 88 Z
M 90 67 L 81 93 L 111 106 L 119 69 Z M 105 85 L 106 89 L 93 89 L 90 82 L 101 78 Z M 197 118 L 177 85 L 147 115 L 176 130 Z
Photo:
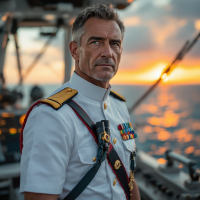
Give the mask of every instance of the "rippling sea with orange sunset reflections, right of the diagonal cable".
M 166 162 L 165 151 L 172 149 L 196 160 L 200 167 L 200 101 L 197 99 L 200 99 L 199 87 L 160 87 L 134 113 L 137 122 L 145 124 L 137 130 L 138 147 L 157 157 L 160 164 Z M 183 166 L 179 164 L 179 168 Z

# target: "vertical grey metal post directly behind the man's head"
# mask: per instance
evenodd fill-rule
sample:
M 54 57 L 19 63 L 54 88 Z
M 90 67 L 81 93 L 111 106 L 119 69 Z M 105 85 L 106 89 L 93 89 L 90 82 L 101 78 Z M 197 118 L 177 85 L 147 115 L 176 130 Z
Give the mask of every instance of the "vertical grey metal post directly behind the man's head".
M 71 26 L 64 27 L 65 32 L 65 41 L 64 41 L 64 60 L 65 60 L 65 71 L 64 71 L 64 82 L 70 80 L 71 77 L 71 70 L 72 70 L 72 57 L 69 50 L 69 43 L 71 41 Z

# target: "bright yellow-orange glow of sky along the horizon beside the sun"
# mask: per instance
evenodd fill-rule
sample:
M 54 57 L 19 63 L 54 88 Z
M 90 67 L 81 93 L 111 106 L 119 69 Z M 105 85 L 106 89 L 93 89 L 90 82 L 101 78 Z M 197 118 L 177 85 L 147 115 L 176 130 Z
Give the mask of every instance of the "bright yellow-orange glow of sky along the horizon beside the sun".
M 139 70 L 119 70 L 113 84 L 153 84 L 162 75 L 167 64 L 150 65 Z M 170 74 L 162 75 L 164 84 L 200 84 L 200 67 L 177 66 Z

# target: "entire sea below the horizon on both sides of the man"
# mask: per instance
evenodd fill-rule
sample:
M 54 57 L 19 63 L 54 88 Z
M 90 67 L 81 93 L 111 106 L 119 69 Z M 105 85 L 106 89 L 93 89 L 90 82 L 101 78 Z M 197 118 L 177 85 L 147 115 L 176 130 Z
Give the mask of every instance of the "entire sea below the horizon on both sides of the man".
M 60 85 L 41 85 L 44 96 Z M 13 88 L 13 86 L 9 86 Z M 113 85 L 123 95 L 128 108 L 149 88 L 149 85 Z M 22 88 L 23 107 L 30 102 L 31 85 Z M 200 168 L 200 85 L 159 85 L 135 110 L 131 123 L 138 138 L 137 149 L 166 162 L 165 151 L 171 149 L 197 162 Z M 182 164 L 180 168 L 184 171 Z

